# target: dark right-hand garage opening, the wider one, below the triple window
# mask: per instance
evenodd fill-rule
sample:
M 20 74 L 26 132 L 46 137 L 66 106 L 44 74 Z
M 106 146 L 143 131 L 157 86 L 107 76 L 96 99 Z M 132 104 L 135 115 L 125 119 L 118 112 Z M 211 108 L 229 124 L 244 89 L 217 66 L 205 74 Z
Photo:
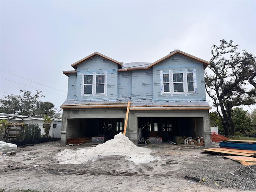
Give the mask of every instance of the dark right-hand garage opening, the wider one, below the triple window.
M 186 137 L 204 137 L 203 118 L 138 118 L 138 143 L 160 138 L 158 142 L 184 144 Z

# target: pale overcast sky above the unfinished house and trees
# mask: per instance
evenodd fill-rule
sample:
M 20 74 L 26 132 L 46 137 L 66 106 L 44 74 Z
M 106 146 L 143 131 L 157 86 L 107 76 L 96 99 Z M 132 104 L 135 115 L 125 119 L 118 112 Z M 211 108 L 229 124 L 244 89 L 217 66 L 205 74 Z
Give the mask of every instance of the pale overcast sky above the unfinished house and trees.
M 62 72 L 96 51 L 124 63 L 175 49 L 209 61 L 221 39 L 256 54 L 256 0 L 0 0 L 0 98 L 41 90 L 60 108 Z

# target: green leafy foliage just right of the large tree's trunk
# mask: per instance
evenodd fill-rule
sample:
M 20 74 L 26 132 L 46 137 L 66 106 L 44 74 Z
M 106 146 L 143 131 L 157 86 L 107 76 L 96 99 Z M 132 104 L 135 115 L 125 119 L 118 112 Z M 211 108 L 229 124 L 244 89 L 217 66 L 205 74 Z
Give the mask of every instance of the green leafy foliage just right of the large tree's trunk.
M 243 108 L 236 107 L 232 110 L 232 120 L 236 132 L 247 134 L 252 130 L 250 115 L 248 111 L 244 111 Z

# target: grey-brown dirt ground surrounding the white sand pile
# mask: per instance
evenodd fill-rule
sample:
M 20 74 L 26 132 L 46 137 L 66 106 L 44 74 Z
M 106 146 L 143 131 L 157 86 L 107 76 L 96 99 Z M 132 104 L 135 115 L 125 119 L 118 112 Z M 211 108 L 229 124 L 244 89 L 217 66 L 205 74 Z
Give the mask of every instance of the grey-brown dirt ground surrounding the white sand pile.
M 134 164 L 123 156 L 99 156 L 84 164 L 59 164 L 60 141 L 18 148 L 0 155 L 0 189 L 38 192 L 235 192 L 256 190 L 256 166 L 185 145 L 143 145 L 158 160 Z M 232 174 L 231 174 L 231 173 Z

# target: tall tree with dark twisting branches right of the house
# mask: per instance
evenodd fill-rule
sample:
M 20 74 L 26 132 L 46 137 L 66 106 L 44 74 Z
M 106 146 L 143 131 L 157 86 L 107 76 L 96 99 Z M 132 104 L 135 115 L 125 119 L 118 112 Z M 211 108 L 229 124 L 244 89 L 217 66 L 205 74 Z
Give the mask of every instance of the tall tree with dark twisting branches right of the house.
M 212 58 L 205 71 L 206 92 L 213 99 L 226 135 L 234 135 L 232 108 L 256 103 L 256 92 L 246 85 L 256 71 L 256 57 L 242 51 L 232 41 L 220 40 L 212 46 Z M 229 131 L 230 127 L 230 131 Z

